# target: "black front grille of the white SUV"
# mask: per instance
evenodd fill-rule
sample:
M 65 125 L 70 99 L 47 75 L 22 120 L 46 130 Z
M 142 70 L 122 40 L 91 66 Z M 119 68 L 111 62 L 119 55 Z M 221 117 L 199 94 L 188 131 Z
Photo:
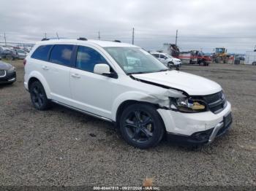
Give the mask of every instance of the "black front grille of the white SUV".
M 206 101 L 206 104 L 208 104 L 210 111 L 214 112 L 215 114 L 222 112 L 227 105 L 225 94 L 222 91 L 211 95 L 205 95 L 203 96 L 203 100 Z

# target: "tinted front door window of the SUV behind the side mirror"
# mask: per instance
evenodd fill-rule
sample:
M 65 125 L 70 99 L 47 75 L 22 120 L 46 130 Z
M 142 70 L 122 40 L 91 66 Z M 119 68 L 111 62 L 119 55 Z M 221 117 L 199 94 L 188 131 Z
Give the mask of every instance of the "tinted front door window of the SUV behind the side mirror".
M 94 72 L 97 63 L 108 63 L 102 55 L 90 47 L 78 47 L 76 66 L 78 69 Z

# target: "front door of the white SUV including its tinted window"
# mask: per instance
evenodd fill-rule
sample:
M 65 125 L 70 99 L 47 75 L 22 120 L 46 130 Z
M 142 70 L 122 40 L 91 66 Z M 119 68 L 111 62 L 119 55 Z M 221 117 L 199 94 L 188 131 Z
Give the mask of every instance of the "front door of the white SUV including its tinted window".
M 76 67 L 70 71 L 72 101 L 78 109 L 110 118 L 116 79 L 94 74 L 97 63 L 108 64 L 97 50 L 78 47 Z

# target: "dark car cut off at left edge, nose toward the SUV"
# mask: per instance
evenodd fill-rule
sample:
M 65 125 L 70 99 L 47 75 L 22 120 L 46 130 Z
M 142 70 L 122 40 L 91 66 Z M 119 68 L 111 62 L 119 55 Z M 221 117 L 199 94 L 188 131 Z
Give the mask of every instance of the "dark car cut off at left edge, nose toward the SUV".
M 16 81 L 15 67 L 10 63 L 0 61 L 0 84 L 13 83 Z

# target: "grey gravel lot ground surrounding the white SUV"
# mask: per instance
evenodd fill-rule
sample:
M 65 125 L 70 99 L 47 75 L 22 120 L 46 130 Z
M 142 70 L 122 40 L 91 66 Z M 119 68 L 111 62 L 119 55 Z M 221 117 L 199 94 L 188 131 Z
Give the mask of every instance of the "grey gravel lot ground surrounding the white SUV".
M 140 150 L 108 122 L 62 106 L 34 109 L 22 61 L 12 64 L 18 81 L 0 87 L 0 185 L 138 186 L 148 176 L 158 186 L 256 186 L 256 67 L 183 66 L 222 85 L 233 105 L 233 128 L 196 150 L 167 141 Z

